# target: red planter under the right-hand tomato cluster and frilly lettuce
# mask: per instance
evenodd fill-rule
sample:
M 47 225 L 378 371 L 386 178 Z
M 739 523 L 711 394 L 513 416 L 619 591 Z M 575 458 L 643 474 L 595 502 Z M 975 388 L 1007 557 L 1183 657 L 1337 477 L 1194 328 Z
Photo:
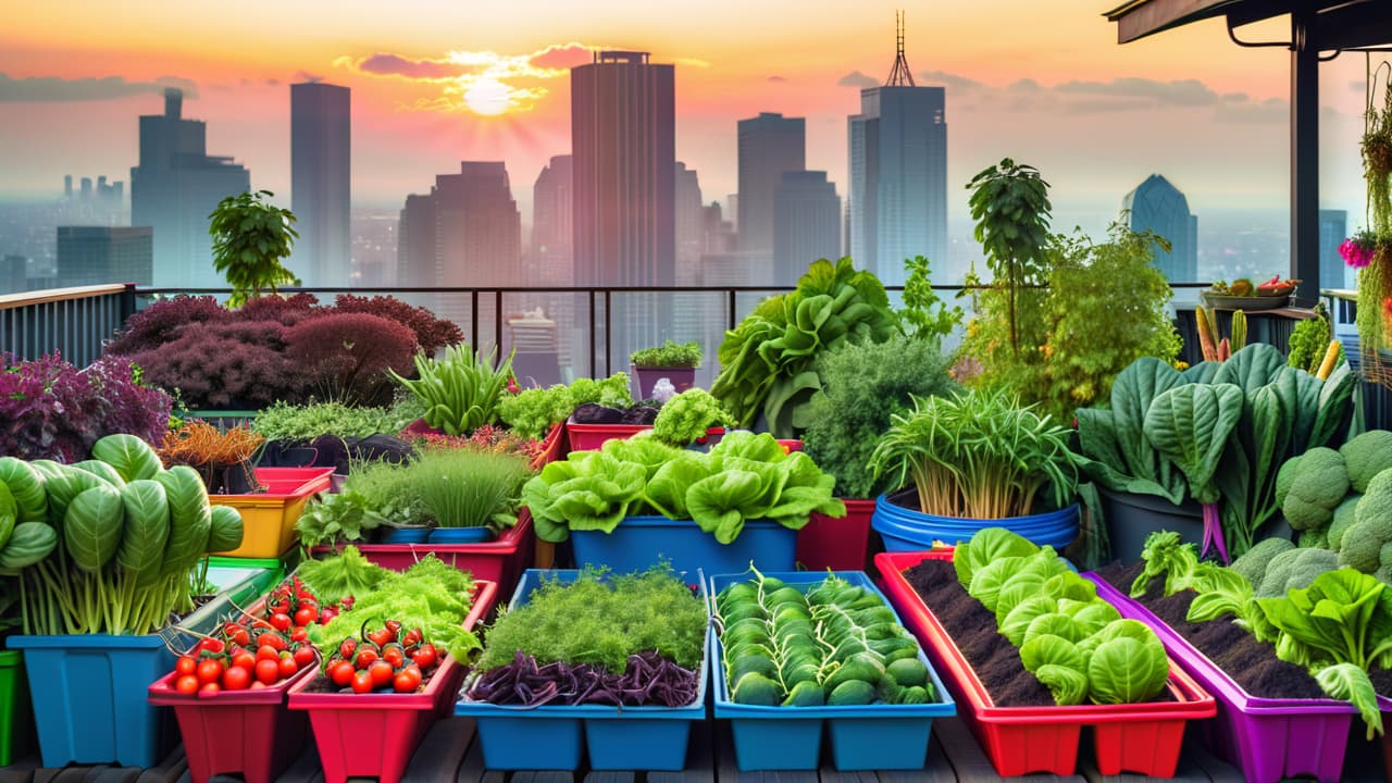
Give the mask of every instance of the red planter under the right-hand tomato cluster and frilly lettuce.
M 498 599 L 497 584 L 475 584 L 473 609 L 464 621 L 468 630 Z M 326 783 L 349 777 L 400 783 L 420 738 L 436 719 L 452 712 L 464 673 L 462 663 L 445 656 L 419 694 L 308 694 L 305 687 L 315 679 L 306 677 L 290 690 L 290 709 L 309 713 Z

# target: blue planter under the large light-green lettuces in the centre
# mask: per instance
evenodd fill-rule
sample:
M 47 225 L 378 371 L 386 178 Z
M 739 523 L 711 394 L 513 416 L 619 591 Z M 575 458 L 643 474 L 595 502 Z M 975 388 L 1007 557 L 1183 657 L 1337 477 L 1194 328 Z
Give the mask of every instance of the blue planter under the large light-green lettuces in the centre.
M 707 574 L 736 574 L 753 561 L 760 571 L 792 571 L 798 553 L 798 531 L 778 522 L 756 520 L 731 543 L 700 529 L 690 520 L 628 517 L 614 532 L 571 531 L 578 566 L 608 566 L 619 574 L 642 571 L 660 559 L 688 578 L 697 570 Z

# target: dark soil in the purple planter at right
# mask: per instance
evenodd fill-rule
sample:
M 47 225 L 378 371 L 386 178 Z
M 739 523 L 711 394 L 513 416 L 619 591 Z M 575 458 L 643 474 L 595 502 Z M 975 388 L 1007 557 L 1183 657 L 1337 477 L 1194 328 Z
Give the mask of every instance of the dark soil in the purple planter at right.
M 1144 563 L 1132 566 L 1112 563 L 1100 568 L 1097 575 L 1129 595 L 1132 582 L 1143 568 Z M 1165 596 L 1162 585 L 1162 577 L 1151 580 L 1146 596 L 1139 599 L 1140 605 L 1189 639 L 1189 644 L 1199 648 L 1244 691 L 1260 698 L 1328 698 L 1320 683 L 1315 683 L 1303 666 L 1281 660 L 1276 658 L 1276 648 L 1257 641 L 1257 637 L 1231 619 L 1207 623 L 1186 620 L 1189 605 L 1199 594 L 1186 589 Z

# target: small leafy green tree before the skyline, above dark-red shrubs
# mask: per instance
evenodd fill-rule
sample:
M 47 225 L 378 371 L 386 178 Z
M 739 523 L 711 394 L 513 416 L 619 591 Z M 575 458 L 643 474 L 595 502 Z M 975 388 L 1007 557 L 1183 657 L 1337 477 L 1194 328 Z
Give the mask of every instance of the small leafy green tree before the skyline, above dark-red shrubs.
M 263 291 L 274 294 L 280 286 L 298 286 L 281 263 L 299 238 L 292 223 L 295 215 L 263 199 L 270 191 L 227 196 L 209 215 L 213 237 L 213 268 L 227 277 L 232 288 L 228 307 L 241 307 Z

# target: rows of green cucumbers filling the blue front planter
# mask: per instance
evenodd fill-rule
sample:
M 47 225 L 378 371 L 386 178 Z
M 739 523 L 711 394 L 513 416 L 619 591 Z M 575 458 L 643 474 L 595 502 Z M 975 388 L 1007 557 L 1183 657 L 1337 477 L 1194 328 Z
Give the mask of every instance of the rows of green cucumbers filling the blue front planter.
M 799 588 L 754 571 L 753 580 L 715 596 L 725 683 L 736 704 L 796 708 L 937 698 L 917 642 L 878 595 L 835 574 Z

